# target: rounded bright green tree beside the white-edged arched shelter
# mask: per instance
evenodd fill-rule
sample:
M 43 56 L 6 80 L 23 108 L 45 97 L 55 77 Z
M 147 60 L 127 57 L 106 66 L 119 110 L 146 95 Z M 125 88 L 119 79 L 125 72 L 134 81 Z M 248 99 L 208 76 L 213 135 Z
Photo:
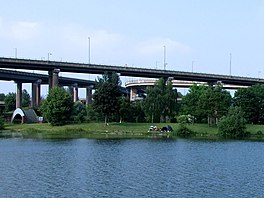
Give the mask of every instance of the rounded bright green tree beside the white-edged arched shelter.
M 63 125 L 71 118 L 73 108 L 72 97 L 63 88 L 54 87 L 49 91 L 47 99 L 41 105 L 44 118 L 51 125 Z

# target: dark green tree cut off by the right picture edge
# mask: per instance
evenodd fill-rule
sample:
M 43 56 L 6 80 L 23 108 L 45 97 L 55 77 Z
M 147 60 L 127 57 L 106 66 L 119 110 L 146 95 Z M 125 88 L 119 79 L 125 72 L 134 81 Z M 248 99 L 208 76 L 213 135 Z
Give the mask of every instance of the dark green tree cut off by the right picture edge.
M 264 124 L 264 85 L 238 89 L 234 95 L 234 105 L 243 109 L 248 123 Z

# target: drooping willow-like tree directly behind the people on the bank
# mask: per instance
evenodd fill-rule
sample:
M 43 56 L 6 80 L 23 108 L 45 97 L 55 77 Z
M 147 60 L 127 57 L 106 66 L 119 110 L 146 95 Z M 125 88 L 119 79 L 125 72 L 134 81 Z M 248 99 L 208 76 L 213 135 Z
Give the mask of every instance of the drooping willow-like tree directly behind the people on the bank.
M 172 82 L 160 78 L 154 87 L 148 87 L 143 109 L 148 121 L 164 122 L 166 118 L 172 119 L 177 110 L 177 91 L 173 90 Z

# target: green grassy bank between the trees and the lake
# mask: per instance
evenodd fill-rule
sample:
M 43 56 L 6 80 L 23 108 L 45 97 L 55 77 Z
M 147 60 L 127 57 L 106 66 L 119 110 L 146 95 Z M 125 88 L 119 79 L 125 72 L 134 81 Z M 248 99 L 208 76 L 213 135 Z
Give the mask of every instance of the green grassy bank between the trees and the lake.
M 18 124 L 6 125 L 5 134 L 19 134 L 22 137 L 33 138 L 148 138 L 155 136 L 177 137 L 179 125 L 170 124 L 175 132 L 173 133 L 148 133 L 150 125 L 158 127 L 166 124 L 150 123 L 84 123 L 71 124 L 65 126 L 51 126 L 50 124 Z M 217 127 L 208 127 L 206 124 L 188 125 L 188 128 L 195 132 L 193 138 L 215 139 L 219 138 Z M 248 125 L 247 131 L 250 132 L 249 139 L 264 140 L 263 125 Z

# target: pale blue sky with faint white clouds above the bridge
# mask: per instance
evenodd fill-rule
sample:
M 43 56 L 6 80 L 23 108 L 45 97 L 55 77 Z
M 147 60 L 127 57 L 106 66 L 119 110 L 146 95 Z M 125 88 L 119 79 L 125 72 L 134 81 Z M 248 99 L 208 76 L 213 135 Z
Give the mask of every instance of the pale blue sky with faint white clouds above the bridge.
M 264 0 L 0 2 L 0 57 L 264 77 Z

